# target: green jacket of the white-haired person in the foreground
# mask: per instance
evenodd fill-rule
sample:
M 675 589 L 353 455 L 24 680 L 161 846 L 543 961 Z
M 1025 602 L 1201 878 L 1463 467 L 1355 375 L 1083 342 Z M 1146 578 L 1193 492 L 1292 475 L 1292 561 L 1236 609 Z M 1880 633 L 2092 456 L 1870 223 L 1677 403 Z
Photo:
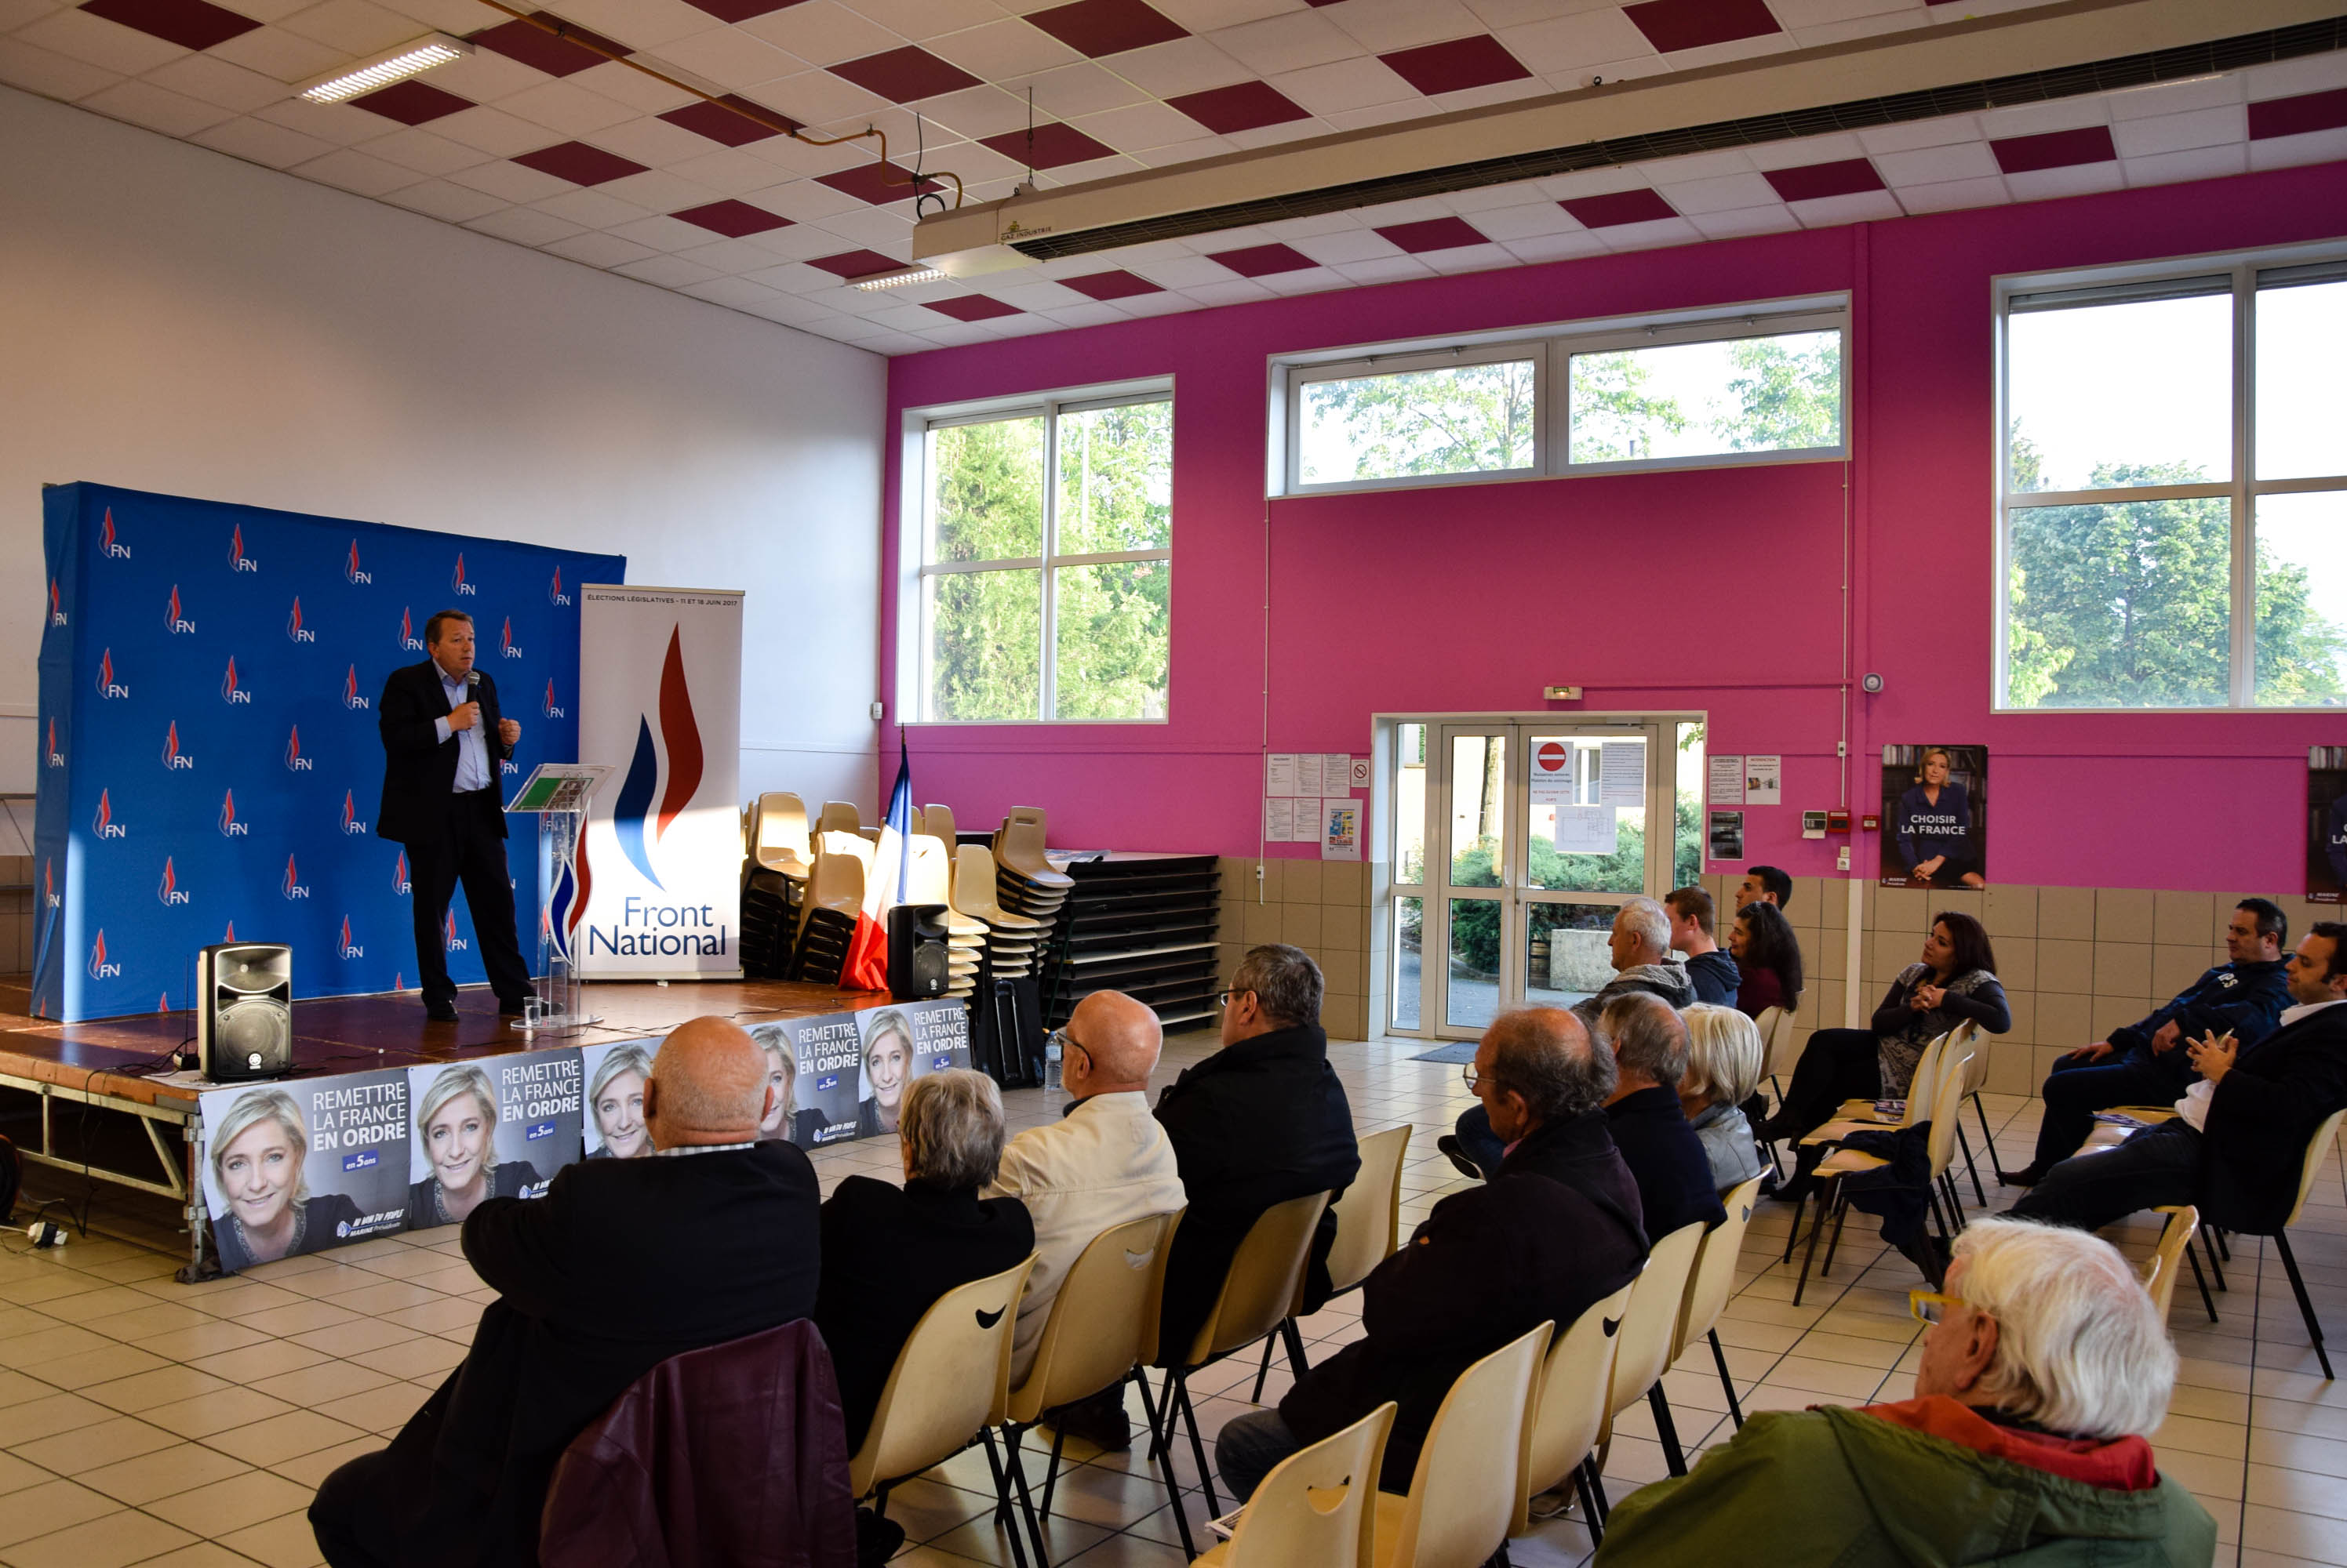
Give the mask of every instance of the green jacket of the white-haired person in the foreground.
M 1753 1415 L 1695 1474 L 1638 1488 L 1605 1521 L 1601 1568 L 2209 1568 L 2216 1521 L 2183 1486 L 2112 1491 L 1927 1432 L 1821 1406 Z

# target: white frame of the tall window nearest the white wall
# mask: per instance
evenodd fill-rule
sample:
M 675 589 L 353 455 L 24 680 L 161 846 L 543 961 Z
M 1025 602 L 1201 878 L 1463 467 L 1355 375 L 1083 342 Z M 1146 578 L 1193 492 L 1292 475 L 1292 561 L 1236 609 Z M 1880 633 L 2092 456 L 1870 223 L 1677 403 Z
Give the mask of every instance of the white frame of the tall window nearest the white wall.
M 901 427 L 901 484 L 899 484 L 899 552 L 897 552 L 897 723 L 901 725 L 1164 725 L 1174 721 L 1174 667 L 1171 624 L 1166 636 L 1166 702 L 1157 718 L 1063 718 L 1058 709 L 1058 580 L 1056 573 L 1073 566 L 1115 566 L 1127 561 L 1166 563 L 1166 603 L 1174 596 L 1174 521 L 1166 519 L 1166 542 L 1157 549 L 1105 549 L 1105 552 L 1058 552 L 1058 420 L 1068 413 L 1091 413 L 1098 408 L 1129 408 L 1138 404 L 1174 404 L 1174 378 L 1148 378 L 1105 383 L 1091 387 L 1063 387 L 1054 392 L 1028 392 L 1021 397 L 995 397 L 962 404 L 934 404 L 906 408 Z M 932 484 L 934 434 L 962 425 L 990 425 L 1000 420 L 1042 420 L 1042 554 L 1037 556 L 990 556 L 986 561 L 934 561 L 936 545 L 936 491 Z M 1169 453 L 1171 469 L 1171 453 Z M 1171 477 L 1169 477 L 1171 484 Z M 1169 502 L 1171 509 L 1171 502 Z M 934 662 L 932 662 L 932 603 L 929 582 L 934 577 L 958 577 L 974 573 L 1037 573 L 1037 711 L 1023 718 L 936 718 Z

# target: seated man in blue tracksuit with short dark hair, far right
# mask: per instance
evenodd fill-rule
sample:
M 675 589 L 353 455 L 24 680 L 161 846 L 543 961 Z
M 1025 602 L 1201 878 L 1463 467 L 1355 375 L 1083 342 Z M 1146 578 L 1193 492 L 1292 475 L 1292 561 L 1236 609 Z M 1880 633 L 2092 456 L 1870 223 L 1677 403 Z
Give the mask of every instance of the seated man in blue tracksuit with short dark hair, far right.
M 2270 899 L 2241 899 L 2225 925 L 2232 962 L 2209 969 L 2173 1002 L 2110 1040 L 2082 1045 L 2047 1075 L 2044 1120 L 2037 1155 L 2023 1171 L 2007 1171 L 2014 1185 L 2037 1185 L 2056 1164 L 2077 1153 L 2094 1131 L 2094 1113 L 2112 1106 L 2166 1106 L 2192 1084 L 2185 1045 L 2204 1035 L 2232 1035 L 2239 1049 L 2265 1040 L 2291 1005 L 2281 948 L 2291 922 Z

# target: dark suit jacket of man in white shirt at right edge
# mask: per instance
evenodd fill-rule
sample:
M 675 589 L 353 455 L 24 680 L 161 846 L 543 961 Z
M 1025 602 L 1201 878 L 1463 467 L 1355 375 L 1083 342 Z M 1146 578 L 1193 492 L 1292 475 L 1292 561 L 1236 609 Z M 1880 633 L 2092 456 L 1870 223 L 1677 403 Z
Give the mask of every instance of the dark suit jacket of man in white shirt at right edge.
M 2178 1047 L 2180 1049 L 2180 1047 Z M 2347 1106 L 2347 1002 L 2284 1023 L 2209 1094 L 2201 1223 L 2272 1235 L 2298 1202 L 2307 1138 Z

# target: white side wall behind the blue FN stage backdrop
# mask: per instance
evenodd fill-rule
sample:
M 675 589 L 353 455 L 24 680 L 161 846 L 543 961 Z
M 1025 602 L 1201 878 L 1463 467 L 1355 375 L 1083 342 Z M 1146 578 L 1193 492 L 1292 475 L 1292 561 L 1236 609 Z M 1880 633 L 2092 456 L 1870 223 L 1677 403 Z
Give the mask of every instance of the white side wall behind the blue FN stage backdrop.
M 887 361 L 0 87 L 0 789 L 40 486 L 627 554 L 749 592 L 742 789 L 871 812 Z

